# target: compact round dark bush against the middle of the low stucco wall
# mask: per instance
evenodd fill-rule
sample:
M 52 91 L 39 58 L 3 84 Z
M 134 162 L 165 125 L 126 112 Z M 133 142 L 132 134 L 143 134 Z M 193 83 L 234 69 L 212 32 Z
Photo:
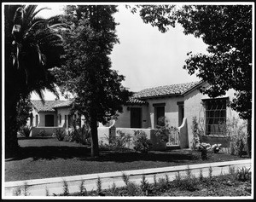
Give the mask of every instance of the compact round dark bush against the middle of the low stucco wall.
M 144 131 L 135 130 L 134 131 L 134 149 L 141 153 L 148 153 L 152 147 L 152 143 L 148 140 L 147 135 Z

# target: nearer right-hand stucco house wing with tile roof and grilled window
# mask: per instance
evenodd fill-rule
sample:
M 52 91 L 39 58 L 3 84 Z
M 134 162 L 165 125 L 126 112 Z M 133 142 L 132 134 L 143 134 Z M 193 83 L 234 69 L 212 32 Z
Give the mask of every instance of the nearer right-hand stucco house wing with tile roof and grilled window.
M 143 89 L 126 103 L 124 112 L 119 114 L 114 126 L 117 130 L 154 130 L 165 124 L 161 121 L 164 118 L 169 125 L 180 131 L 181 147 L 191 147 L 192 120 L 196 117 L 203 132 L 201 141 L 230 147 L 229 139 L 220 124 L 238 118 L 238 113 L 228 105 L 236 91 L 230 89 L 223 96 L 210 98 L 200 91 L 208 87 L 207 82 L 200 81 Z M 242 122 L 241 119 L 239 121 Z

